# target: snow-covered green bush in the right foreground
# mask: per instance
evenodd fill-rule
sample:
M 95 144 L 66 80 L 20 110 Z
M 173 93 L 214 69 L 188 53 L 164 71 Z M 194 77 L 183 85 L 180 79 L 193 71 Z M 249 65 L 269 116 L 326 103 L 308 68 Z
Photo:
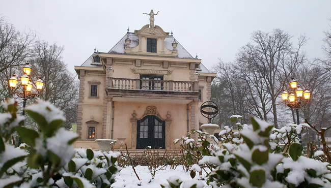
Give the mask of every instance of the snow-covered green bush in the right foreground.
M 302 132 L 303 127 L 307 127 L 305 124 L 288 124 L 277 130 L 257 118 L 251 118 L 251 122 L 250 126 L 241 126 L 242 130 L 238 135 L 227 134 L 231 131 L 225 128 L 220 133 L 224 135 L 222 141 L 227 140 L 222 144 L 224 149 L 211 149 L 207 146 L 204 155 L 201 154 L 200 148 L 202 150 L 203 145 L 209 144 L 206 139 L 201 139 L 201 136 L 197 142 L 187 141 L 190 137 L 179 139 L 183 142 L 181 147 L 190 153 L 192 158 L 199 159 L 201 169 L 211 169 L 211 173 L 206 176 L 209 186 L 331 187 L 330 164 L 301 156 L 297 135 Z M 232 139 L 229 139 L 229 136 Z M 275 149 L 277 147 L 279 149 Z M 316 155 L 319 154 L 321 152 Z M 196 167 L 195 169 L 199 169 Z M 168 181 L 173 182 L 172 179 L 175 178 Z

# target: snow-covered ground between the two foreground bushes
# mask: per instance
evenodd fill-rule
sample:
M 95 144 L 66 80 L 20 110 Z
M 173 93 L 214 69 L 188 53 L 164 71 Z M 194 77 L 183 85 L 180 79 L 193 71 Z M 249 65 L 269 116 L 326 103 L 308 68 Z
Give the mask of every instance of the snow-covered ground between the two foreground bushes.
M 116 182 L 113 183 L 111 187 L 157 188 L 161 187 L 160 184 L 168 184 L 167 179 L 170 176 L 178 176 L 183 181 L 192 179 L 189 175 L 190 172 L 186 172 L 185 170 L 183 170 L 182 166 L 177 166 L 176 170 L 170 169 L 170 166 L 167 166 L 165 170 L 157 171 L 154 179 L 152 179 L 152 175 L 150 174 L 147 166 L 136 166 L 134 169 L 141 180 L 138 180 L 138 178 L 135 176 L 132 167 L 128 166 L 126 168 L 123 168 L 119 173 L 116 174 Z M 202 180 L 205 176 L 206 173 L 203 171 L 201 176 L 199 176 L 199 173 L 196 173 L 196 177 L 194 179 Z M 205 183 L 205 185 L 207 185 L 205 181 L 203 182 Z

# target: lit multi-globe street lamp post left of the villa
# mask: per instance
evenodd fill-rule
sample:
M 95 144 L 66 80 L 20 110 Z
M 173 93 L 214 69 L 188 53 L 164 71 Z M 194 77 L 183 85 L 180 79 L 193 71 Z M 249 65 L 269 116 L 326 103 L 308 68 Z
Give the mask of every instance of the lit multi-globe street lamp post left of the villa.
M 25 66 L 23 67 L 23 72 L 24 72 L 24 75 L 20 77 L 21 85 L 23 86 L 23 92 L 14 91 L 14 88 L 16 87 L 16 84 L 18 82 L 15 74 L 13 75 L 13 77 L 11 77 L 9 79 L 9 86 L 11 87 L 11 93 L 16 94 L 17 97 L 20 97 L 23 99 L 22 115 L 24 115 L 24 108 L 25 108 L 26 100 L 33 99 L 33 98 L 39 96 L 40 90 L 42 89 L 42 87 L 44 85 L 44 82 L 39 77 L 39 79 L 35 82 L 37 93 L 31 92 L 32 88 L 33 88 L 33 83 L 29 77 L 29 75 L 31 74 L 31 67 L 29 65 L 29 62 L 26 62 Z

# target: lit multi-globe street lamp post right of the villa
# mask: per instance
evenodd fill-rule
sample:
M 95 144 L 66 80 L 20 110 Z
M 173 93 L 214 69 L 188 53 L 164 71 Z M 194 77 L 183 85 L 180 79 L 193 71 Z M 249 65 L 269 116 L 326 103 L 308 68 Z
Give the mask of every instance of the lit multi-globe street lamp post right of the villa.
M 307 88 L 305 88 L 304 91 L 302 88 L 300 88 L 300 86 L 297 86 L 297 81 L 294 80 L 294 78 L 292 78 L 290 82 L 290 88 L 292 89 L 292 91 L 290 91 L 290 95 L 284 89 L 281 96 L 287 107 L 296 110 L 296 123 L 299 124 L 299 108 L 308 104 L 308 101 L 310 99 L 310 91 Z M 294 93 L 296 95 L 294 95 Z M 302 149 L 301 134 L 299 134 L 299 140 Z

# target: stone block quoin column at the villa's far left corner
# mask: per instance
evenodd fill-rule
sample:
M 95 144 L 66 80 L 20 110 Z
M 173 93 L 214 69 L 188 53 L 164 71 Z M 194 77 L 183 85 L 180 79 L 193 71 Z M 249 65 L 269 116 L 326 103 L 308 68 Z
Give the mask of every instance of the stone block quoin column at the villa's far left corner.
M 77 134 L 81 139 L 82 127 L 82 104 L 84 103 L 84 89 L 85 89 L 85 70 L 79 71 L 79 98 L 78 98 L 78 111 L 77 111 Z

